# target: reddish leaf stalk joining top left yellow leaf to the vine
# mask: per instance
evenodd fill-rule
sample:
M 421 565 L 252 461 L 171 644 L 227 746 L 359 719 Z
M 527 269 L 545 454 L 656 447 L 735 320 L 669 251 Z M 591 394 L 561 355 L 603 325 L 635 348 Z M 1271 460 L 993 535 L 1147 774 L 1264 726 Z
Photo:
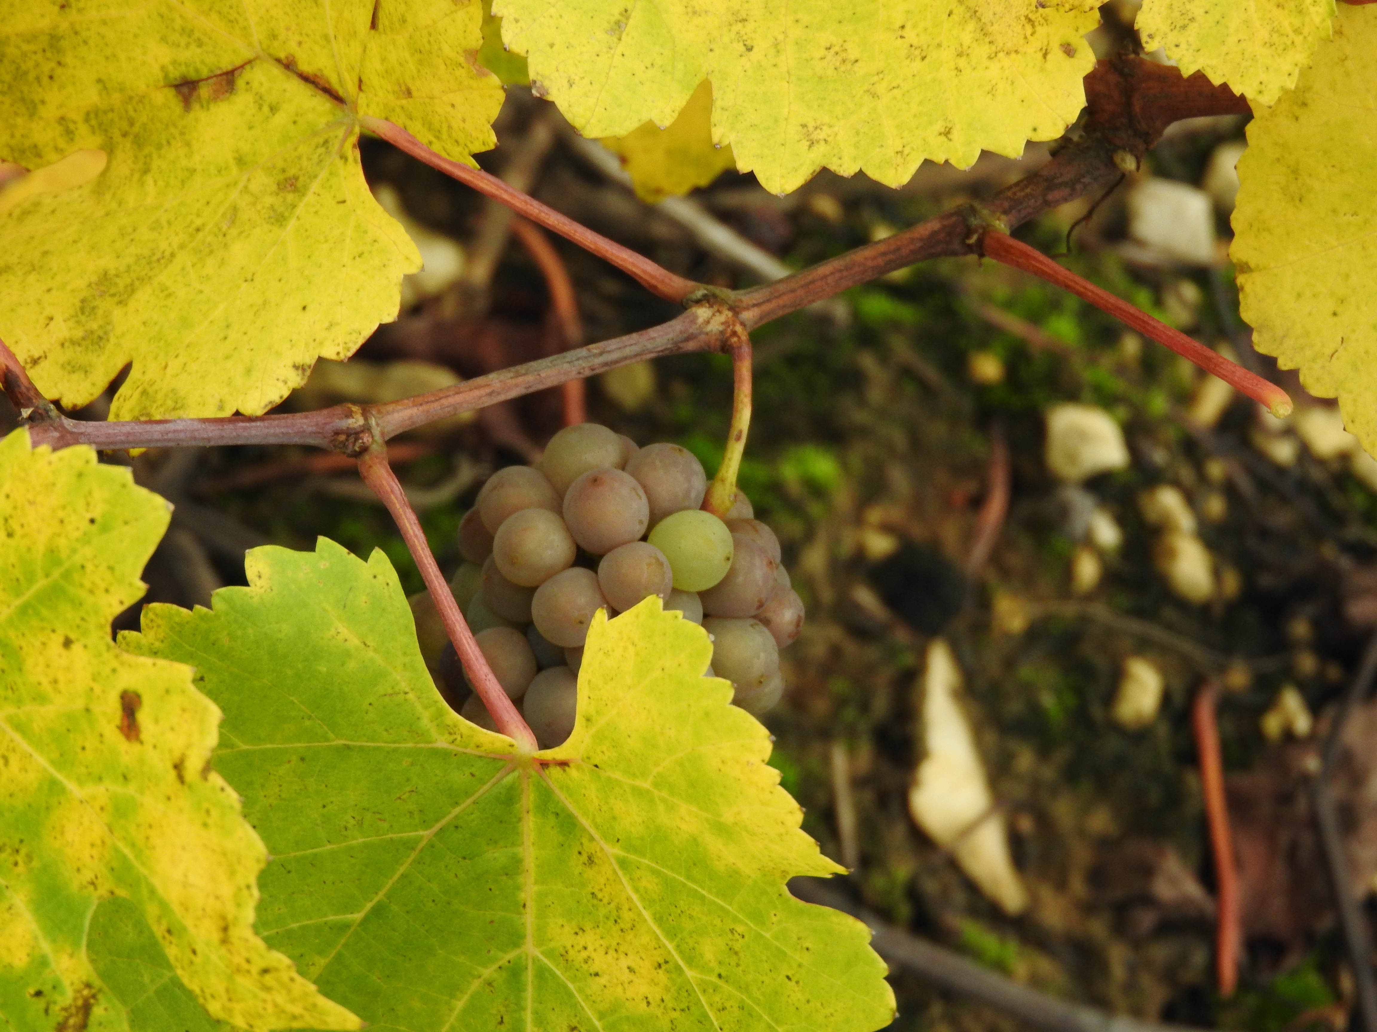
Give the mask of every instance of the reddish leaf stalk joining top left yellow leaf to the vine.
M 437 154 L 395 122 L 364 116 L 359 118 L 359 125 L 368 132 L 387 140 L 398 150 L 406 151 L 417 161 L 424 161 L 431 168 L 457 179 L 464 186 L 470 186 L 478 193 L 500 201 L 518 215 L 523 215 L 547 230 L 571 239 L 584 250 L 616 266 L 653 294 L 664 297 L 666 301 L 682 304 L 688 294 L 702 288 L 701 283 L 671 272 L 644 255 L 638 255 L 631 248 L 624 248 L 621 244 L 607 239 L 600 233 L 593 233 L 587 226 L 574 222 L 567 215 L 560 215 L 554 208 L 523 194 L 521 190 L 512 189 L 497 176 L 489 175 L 481 168 L 471 168 L 461 161 L 450 161 Z

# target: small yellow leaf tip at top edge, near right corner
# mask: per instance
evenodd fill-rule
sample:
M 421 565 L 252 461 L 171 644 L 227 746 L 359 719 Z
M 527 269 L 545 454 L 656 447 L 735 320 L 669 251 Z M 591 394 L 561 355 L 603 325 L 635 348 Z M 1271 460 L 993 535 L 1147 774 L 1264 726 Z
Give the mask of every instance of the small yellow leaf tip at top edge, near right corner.
M 1183 76 L 1203 72 L 1254 105 L 1296 85 L 1334 0 L 1143 0 L 1135 22 L 1147 50 L 1166 48 Z

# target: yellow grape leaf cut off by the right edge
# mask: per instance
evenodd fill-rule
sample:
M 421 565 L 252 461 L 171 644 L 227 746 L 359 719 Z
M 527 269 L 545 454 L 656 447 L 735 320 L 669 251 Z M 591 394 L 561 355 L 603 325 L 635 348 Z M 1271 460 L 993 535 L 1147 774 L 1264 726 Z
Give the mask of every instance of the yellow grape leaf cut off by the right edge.
M 1260 110 L 1238 162 L 1234 245 L 1253 343 L 1338 398 L 1377 453 L 1377 7 L 1344 7 L 1296 89 Z

